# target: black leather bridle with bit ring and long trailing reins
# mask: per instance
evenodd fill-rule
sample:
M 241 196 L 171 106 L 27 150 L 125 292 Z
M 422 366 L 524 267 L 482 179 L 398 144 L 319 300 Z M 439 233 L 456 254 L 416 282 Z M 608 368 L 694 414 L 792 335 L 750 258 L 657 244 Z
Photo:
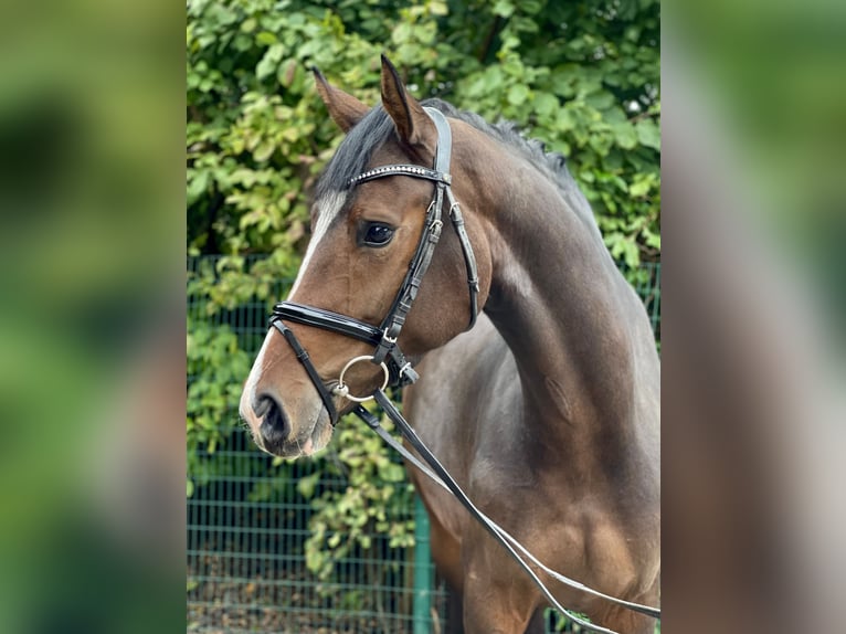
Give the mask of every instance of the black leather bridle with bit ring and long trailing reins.
M 450 156 L 452 154 L 452 133 L 450 124 L 446 117 L 434 108 L 425 108 L 425 112 L 432 118 L 437 129 L 437 149 L 435 152 L 435 160 L 433 169 L 427 169 L 415 165 L 389 165 L 383 167 L 373 168 L 359 176 L 351 178 L 347 186 L 349 188 L 361 184 L 370 180 L 379 178 L 388 178 L 391 176 L 409 176 L 412 178 L 420 178 L 430 180 L 435 183 L 435 193 L 430 203 L 425 221 L 423 225 L 423 232 L 421 233 L 420 241 L 417 242 L 416 251 L 409 265 L 409 271 L 400 285 L 400 289 L 396 293 L 396 297 L 391 305 L 388 315 L 382 320 L 380 326 L 372 326 L 353 317 L 326 310 L 322 308 L 315 308 L 314 306 L 306 306 L 304 304 L 297 304 L 295 302 L 281 302 L 276 304 L 271 316 L 271 326 L 276 328 L 293 348 L 297 359 L 305 368 L 308 377 L 311 379 L 317 392 L 320 394 L 320 399 L 324 402 L 329 420 L 335 426 L 338 422 L 338 410 L 335 406 L 332 394 L 343 397 L 350 401 L 353 401 L 357 406 L 352 410 L 357 416 L 364 421 L 372 430 L 374 430 L 382 440 L 391 447 L 398 451 L 406 461 L 416 466 L 423 474 L 432 478 L 437 485 L 452 493 L 459 503 L 467 509 L 467 511 L 479 521 L 490 535 L 516 559 L 517 563 L 526 571 L 526 573 L 532 579 L 532 581 L 539 587 L 543 595 L 550 602 L 550 604 L 565 614 L 574 623 L 580 624 L 582 627 L 592 630 L 594 632 L 601 632 L 603 634 L 616 634 L 612 630 L 607 630 L 600 625 L 595 625 L 572 612 L 564 609 L 547 589 L 535 570 L 527 563 L 527 560 L 533 563 L 537 568 L 543 570 L 547 574 L 553 579 L 581 590 L 594 596 L 599 596 L 616 603 L 628 610 L 654 616 L 660 617 L 660 611 L 655 607 L 642 605 L 639 603 L 633 603 L 624 601 L 615 596 L 610 596 L 592 588 L 589 588 L 579 581 L 574 581 L 551 570 L 542 562 L 540 562 L 535 556 L 532 556 L 519 541 L 508 535 L 500 526 L 494 522 L 482 510 L 479 510 L 467 495 L 462 490 L 455 479 L 443 467 L 440 461 L 432 454 L 432 452 L 423 444 L 423 441 L 416 435 L 414 430 L 409 425 L 408 421 L 402 416 L 400 411 L 385 395 L 384 389 L 390 384 L 394 387 L 402 387 L 413 383 L 417 380 L 419 376 L 412 368 L 411 362 L 405 358 L 402 350 L 398 345 L 398 338 L 405 318 L 411 310 L 414 299 L 417 296 L 420 284 L 423 281 L 423 276 L 429 270 L 429 265 L 432 262 L 432 256 L 441 239 L 441 230 L 443 229 L 443 208 L 444 200 L 448 204 L 448 215 L 452 220 L 453 228 L 458 236 L 458 241 L 462 245 L 462 252 L 464 253 L 464 262 L 467 270 L 467 286 L 469 288 L 469 306 L 470 317 L 467 325 L 467 329 L 473 328 L 478 315 L 478 302 L 477 296 L 479 292 L 478 273 L 476 270 L 476 258 L 473 254 L 473 247 L 470 245 L 467 232 L 464 228 L 464 218 L 462 216 L 458 202 L 452 192 L 452 177 L 450 175 Z M 317 370 L 311 363 L 308 352 L 297 340 L 294 332 L 285 325 L 285 321 L 293 321 L 295 324 L 302 324 L 305 326 L 313 326 L 315 328 L 321 328 L 330 332 L 336 332 L 358 339 L 366 344 L 370 344 L 374 347 L 372 355 L 366 355 L 361 357 L 355 357 L 350 359 L 345 368 L 341 370 L 337 384 L 331 389 L 331 392 L 327 389 L 322 379 L 318 374 Z M 368 397 L 355 397 L 349 393 L 349 387 L 343 382 L 343 376 L 353 364 L 361 361 L 371 361 L 381 367 L 384 374 L 384 380 L 381 388 L 374 390 L 372 395 Z M 388 416 L 396 424 L 405 440 L 414 447 L 414 450 L 425 459 L 427 466 L 421 463 L 416 456 L 411 454 L 405 447 L 399 444 L 393 436 L 391 436 L 380 424 L 379 418 L 373 415 L 361 403 L 374 399 Z

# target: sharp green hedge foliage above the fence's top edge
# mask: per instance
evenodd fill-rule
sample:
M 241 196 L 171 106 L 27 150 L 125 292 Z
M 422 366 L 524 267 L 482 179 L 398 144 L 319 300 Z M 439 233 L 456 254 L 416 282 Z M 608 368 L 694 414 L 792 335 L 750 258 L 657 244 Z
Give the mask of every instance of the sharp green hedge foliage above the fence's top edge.
M 659 255 L 656 1 L 195 0 L 187 43 L 194 253 L 302 253 L 308 192 L 341 139 L 308 67 L 376 104 L 387 50 L 416 96 L 565 155 L 616 258 Z

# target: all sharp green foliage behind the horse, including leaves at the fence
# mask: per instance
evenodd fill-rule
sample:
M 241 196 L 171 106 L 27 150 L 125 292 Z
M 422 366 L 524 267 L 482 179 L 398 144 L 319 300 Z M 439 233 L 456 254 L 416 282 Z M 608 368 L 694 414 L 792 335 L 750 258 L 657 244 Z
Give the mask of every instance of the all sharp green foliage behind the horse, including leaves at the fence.
M 189 295 L 204 306 L 189 320 L 194 485 L 239 427 L 244 350 L 253 351 L 209 319 L 283 296 L 277 282 L 294 277 L 307 242 L 310 189 L 342 138 L 308 68 L 377 104 L 382 52 L 419 98 L 514 120 L 567 156 L 633 281 L 642 262 L 659 258 L 657 1 L 189 0 L 188 247 L 226 255 L 189 276 Z M 247 271 L 253 253 L 271 255 Z M 336 436 L 335 458 L 318 458 L 299 484 L 316 509 L 308 563 L 324 579 L 368 548 L 372 531 L 392 546 L 413 536 L 410 518 L 391 519 L 410 495 L 399 465 L 361 425 L 343 421 Z M 338 476 L 348 484 L 331 486 Z

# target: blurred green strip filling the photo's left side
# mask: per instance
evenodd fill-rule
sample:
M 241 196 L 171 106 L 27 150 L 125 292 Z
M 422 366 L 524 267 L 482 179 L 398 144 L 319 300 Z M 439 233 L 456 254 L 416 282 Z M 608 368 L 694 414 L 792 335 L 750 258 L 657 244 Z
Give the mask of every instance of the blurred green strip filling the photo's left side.
M 3 632 L 181 626 L 183 20 L 0 9 Z

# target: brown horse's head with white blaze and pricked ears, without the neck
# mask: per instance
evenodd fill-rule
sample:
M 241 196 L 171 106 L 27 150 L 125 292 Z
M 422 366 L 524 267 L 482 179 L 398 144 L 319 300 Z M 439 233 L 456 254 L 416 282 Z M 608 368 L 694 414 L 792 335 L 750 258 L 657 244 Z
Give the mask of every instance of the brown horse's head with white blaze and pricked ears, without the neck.
M 398 338 L 396 350 L 409 359 L 419 358 L 463 331 L 473 311 L 468 308 L 465 250 L 458 233 L 450 229 L 451 204 L 447 198 L 442 201 L 436 197 L 438 188 L 441 193 L 446 188 L 433 179 L 401 173 L 352 184 L 350 179 L 398 163 L 404 168 L 433 168 L 438 129 L 424 107 L 405 92 L 395 68 L 384 57 L 382 107 L 370 109 L 330 86 L 317 72 L 316 77 L 330 116 L 348 135 L 318 181 L 311 208 L 311 241 L 289 302 L 384 327 L 385 317 L 396 310 L 398 289 L 405 285 L 410 262 L 417 258 L 419 245 L 434 231 L 427 210 L 433 199 L 438 200 L 443 203 L 443 221 L 435 224 L 443 222 L 443 239 L 427 271 L 424 267 L 420 292 L 415 292 L 408 319 L 402 316 Z M 445 119 L 438 125 L 447 126 L 448 136 Z M 453 135 L 454 147 L 459 141 L 459 135 Z M 453 152 L 451 171 L 457 181 L 462 168 L 455 159 Z M 472 201 L 463 198 L 465 190 L 456 190 L 468 210 Z M 483 306 L 490 258 L 480 239 L 479 221 L 472 213 L 466 215 L 467 242 L 473 244 L 480 273 L 478 305 Z M 436 229 L 440 233 L 441 228 Z M 355 405 L 338 390 L 341 372 L 351 359 L 374 355 L 374 345 L 302 319 L 282 318 L 278 323 L 284 326 L 269 329 L 250 372 L 241 414 L 265 451 L 281 456 L 309 455 L 331 437 L 336 421 L 330 410 L 342 414 Z M 292 344 L 292 335 L 296 344 Z M 307 352 L 307 361 L 303 361 L 302 351 L 297 357 L 298 348 Z M 396 367 L 395 356 L 385 358 L 389 366 L 391 360 L 391 374 L 396 379 L 401 368 Z M 314 377 L 309 377 L 309 364 Z M 378 363 L 357 362 L 345 372 L 343 384 L 349 394 L 369 394 L 383 382 L 384 372 Z

